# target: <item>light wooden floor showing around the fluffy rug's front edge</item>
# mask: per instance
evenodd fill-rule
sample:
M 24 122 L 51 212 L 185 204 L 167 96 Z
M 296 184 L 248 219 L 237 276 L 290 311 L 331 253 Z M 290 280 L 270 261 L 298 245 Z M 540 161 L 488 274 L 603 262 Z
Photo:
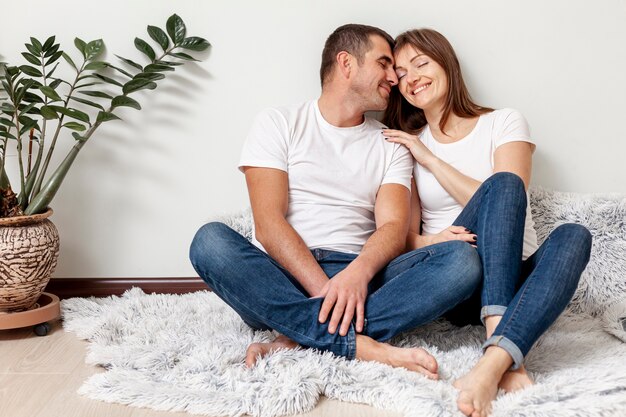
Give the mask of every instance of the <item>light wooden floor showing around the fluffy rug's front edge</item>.
M 100 368 L 85 364 L 87 342 L 66 333 L 59 321 L 45 337 L 32 328 L 0 330 L 0 417 L 181 417 L 90 400 L 76 393 Z M 365 405 L 323 398 L 307 417 L 398 417 Z

